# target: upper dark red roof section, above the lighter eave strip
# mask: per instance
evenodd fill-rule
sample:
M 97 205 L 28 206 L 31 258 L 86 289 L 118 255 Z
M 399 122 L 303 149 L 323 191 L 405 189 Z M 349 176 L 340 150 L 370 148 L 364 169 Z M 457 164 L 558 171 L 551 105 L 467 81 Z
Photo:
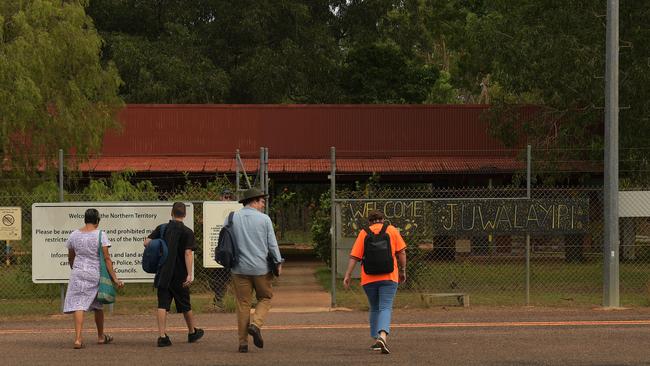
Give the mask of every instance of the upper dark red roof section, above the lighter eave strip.
M 485 105 L 142 105 L 119 114 L 104 156 L 273 158 L 512 156 L 488 133 Z M 534 113 L 522 109 L 523 118 Z

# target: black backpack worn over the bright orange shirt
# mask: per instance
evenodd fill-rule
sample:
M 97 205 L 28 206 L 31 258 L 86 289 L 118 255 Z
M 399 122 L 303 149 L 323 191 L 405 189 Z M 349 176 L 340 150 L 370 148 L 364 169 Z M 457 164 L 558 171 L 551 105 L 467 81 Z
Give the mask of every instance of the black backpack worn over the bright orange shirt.
M 363 271 L 366 274 L 392 273 L 395 269 L 393 262 L 393 250 L 390 245 L 390 236 L 386 234 L 388 223 L 384 222 L 378 234 L 375 234 L 369 227 L 363 230 L 368 234 L 363 241 Z

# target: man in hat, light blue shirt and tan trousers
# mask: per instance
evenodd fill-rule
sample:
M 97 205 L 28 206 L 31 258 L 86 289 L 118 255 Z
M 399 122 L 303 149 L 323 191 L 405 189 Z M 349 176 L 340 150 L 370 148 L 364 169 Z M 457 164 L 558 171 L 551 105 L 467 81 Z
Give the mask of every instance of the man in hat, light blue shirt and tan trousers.
M 262 325 L 271 309 L 273 273 L 268 257 L 281 263 L 280 249 L 275 238 L 271 218 L 264 214 L 266 195 L 256 188 L 244 192 L 239 203 L 244 207 L 235 212 L 232 227 L 239 250 L 239 260 L 232 268 L 232 283 L 237 299 L 237 328 L 239 352 L 248 352 L 248 336 L 253 337 L 256 347 L 264 347 Z M 282 265 L 279 266 L 282 270 Z M 253 290 L 257 298 L 255 312 L 251 316 Z

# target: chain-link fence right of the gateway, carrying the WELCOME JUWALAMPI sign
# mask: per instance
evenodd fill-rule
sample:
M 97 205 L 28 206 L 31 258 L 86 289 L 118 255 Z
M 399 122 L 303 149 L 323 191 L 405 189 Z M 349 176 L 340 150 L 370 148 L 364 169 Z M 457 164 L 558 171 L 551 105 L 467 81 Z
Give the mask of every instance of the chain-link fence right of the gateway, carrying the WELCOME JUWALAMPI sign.
M 407 282 L 398 305 L 600 305 L 602 188 L 380 188 L 341 190 L 337 273 L 367 214 L 382 211 L 407 242 Z M 623 204 L 642 205 L 628 200 Z M 620 220 L 621 304 L 650 303 L 650 215 Z M 624 208 L 621 208 L 623 211 Z M 358 271 L 358 267 L 357 267 Z M 338 281 L 340 284 L 340 281 Z M 358 282 L 339 304 L 364 304 Z

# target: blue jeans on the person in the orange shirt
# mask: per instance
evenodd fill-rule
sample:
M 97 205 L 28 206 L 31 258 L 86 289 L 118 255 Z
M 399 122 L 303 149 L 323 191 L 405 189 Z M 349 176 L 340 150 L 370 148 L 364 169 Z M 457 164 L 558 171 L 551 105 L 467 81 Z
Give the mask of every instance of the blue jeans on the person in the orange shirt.
M 397 283 L 377 281 L 363 285 L 370 306 L 370 336 L 376 338 L 380 331 L 390 333 L 390 317 L 393 315 L 393 299 Z

